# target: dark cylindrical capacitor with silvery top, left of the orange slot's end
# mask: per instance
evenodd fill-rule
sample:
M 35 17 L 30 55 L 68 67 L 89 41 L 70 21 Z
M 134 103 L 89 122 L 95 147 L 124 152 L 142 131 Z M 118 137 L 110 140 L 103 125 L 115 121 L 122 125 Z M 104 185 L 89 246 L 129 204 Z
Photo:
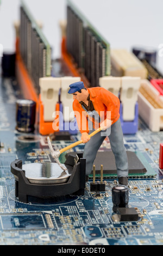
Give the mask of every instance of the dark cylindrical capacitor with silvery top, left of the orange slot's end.
M 16 130 L 33 132 L 35 130 L 36 102 L 33 100 L 16 101 Z

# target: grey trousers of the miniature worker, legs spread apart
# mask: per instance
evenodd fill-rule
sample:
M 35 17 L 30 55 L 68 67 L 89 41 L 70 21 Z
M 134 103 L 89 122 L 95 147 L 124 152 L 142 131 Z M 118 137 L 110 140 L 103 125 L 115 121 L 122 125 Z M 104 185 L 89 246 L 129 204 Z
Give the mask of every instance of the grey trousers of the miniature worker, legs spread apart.
M 112 153 L 115 156 L 117 177 L 119 178 L 121 176 L 128 176 L 128 159 L 126 148 L 124 147 L 123 132 L 120 119 L 118 119 L 116 123 L 112 124 L 108 129 L 111 129 L 109 132 L 110 135 L 108 137 L 110 140 Z M 90 133 L 92 132 L 93 131 Z M 103 131 L 96 133 L 96 135 L 91 137 L 89 142 L 85 143 L 83 157 L 86 159 L 86 175 L 90 175 L 97 151 L 106 138 L 106 136 L 102 136 L 102 132 Z

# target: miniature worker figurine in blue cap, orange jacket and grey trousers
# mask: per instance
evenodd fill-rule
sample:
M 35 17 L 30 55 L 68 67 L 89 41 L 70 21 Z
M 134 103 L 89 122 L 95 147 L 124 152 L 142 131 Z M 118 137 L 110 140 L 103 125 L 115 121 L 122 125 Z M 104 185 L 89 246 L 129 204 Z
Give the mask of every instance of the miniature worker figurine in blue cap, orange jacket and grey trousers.
M 85 88 L 83 82 L 70 84 L 69 94 L 73 95 L 73 111 L 78 128 L 85 143 L 83 157 L 86 159 L 86 176 L 92 171 L 97 151 L 106 136 L 109 137 L 112 153 L 115 156 L 119 184 L 128 184 L 128 159 L 123 143 L 120 121 L 120 100 L 102 87 Z M 83 116 L 86 113 L 86 118 Z M 110 114 L 108 114 L 110 113 Z M 101 118 L 102 117 L 102 118 Z M 102 131 L 89 137 L 98 127 Z M 93 124 L 90 129 L 90 124 Z M 96 126 L 96 127 L 95 127 Z

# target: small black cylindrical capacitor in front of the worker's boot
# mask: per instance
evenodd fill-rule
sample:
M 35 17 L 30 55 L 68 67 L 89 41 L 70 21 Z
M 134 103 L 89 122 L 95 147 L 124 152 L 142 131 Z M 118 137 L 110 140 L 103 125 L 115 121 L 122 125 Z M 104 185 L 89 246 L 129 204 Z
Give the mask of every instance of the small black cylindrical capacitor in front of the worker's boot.
M 128 187 L 124 185 L 117 185 L 112 188 L 112 210 L 116 212 L 117 208 L 128 207 L 129 193 Z

